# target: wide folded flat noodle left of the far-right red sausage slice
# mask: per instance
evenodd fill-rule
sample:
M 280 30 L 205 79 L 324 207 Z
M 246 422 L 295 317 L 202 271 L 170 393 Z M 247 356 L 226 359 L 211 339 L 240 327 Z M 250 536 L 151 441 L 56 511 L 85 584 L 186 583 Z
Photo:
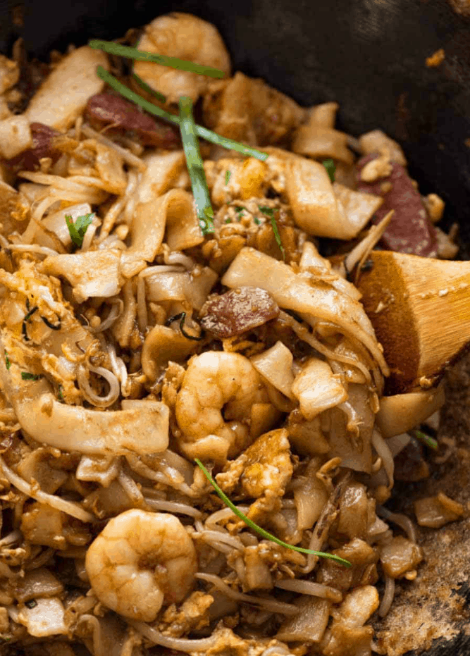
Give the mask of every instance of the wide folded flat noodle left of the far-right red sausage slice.
M 285 161 L 285 193 L 295 223 L 314 237 L 350 240 L 360 228 L 347 216 L 323 164 L 305 158 Z

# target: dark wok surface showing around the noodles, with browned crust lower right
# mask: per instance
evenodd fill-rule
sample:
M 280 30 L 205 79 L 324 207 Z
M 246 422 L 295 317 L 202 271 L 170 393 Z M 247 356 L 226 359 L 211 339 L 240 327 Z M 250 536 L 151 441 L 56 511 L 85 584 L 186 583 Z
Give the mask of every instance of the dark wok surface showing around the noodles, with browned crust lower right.
M 460 257 L 470 256 L 469 0 L 27 0 L 23 27 L 19 4 L 0 0 L 0 51 L 8 53 L 22 36 L 28 54 L 44 61 L 51 49 L 115 38 L 168 11 L 209 20 L 234 70 L 264 78 L 300 104 L 338 101 L 339 128 L 352 135 L 378 127 L 399 141 L 421 192 L 445 199 L 441 227 L 458 221 Z M 426 68 L 426 57 L 439 48 L 445 60 Z M 467 361 L 447 380 L 444 435 L 470 435 L 469 388 Z M 425 485 L 402 485 L 392 503 L 409 509 L 413 495 L 436 485 L 458 495 L 469 487 L 470 466 L 461 461 L 433 468 Z M 420 576 L 428 593 L 421 598 L 422 586 L 399 586 L 398 611 L 376 624 L 389 655 L 421 653 L 424 645 L 431 645 L 428 656 L 470 654 L 468 524 L 423 532 L 428 562 Z

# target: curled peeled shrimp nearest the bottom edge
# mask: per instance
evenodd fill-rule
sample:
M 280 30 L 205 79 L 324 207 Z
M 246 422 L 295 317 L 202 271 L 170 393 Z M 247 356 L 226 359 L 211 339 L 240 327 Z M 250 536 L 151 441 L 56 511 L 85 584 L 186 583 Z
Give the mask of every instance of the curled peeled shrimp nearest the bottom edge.
M 197 555 L 180 520 L 162 512 L 126 510 L 110 519 L 85 559 L 102 604 L 140 621 L 180 602 L 194 583 Z

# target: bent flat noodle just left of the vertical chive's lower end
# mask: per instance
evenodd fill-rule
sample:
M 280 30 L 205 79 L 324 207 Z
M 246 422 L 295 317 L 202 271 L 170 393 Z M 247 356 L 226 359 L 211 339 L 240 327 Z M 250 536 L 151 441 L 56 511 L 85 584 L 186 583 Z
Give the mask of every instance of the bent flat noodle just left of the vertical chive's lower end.
M 192 196 L 181 189 L 174 189 L 159 198 L 137 203 L 130 228 L 130 247 L 121 259 L 123 276 L 132 278 L 142 271 L 146 262 L 155 259 L 163 242 L 167 223 L 171 225 L 180 221 L 181 216 L 192 213 Z

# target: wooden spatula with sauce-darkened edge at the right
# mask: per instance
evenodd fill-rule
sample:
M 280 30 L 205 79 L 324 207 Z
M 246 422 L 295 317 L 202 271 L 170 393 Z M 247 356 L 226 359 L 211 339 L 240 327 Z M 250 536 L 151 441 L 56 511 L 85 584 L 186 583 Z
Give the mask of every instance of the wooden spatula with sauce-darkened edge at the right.
M 470 342 L 470 261 L 371 252 L 357 282 L 391 370 L 388 392 L 431 386 Z

